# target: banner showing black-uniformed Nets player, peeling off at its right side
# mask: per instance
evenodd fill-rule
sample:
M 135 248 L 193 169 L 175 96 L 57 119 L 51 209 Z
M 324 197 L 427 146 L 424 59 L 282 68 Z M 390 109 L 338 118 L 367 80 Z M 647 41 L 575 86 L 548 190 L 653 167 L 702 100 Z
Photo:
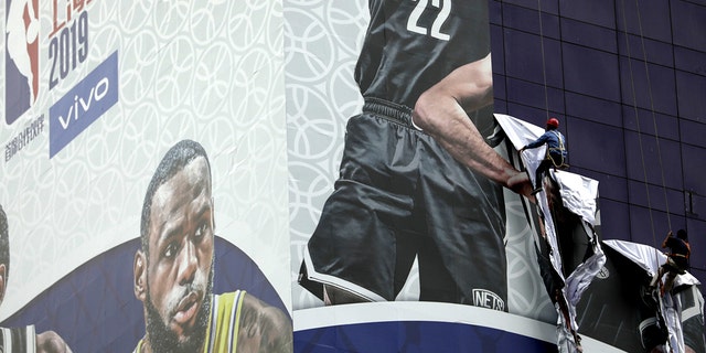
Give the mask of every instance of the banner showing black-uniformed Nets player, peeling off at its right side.
M 650 296 L 605 310 L 598 183 L 560 162 L 537 182 L 545 149 L 517 153 L 545 127 L 493 114 L 485 2 L 291 1 L 285 21 L 296 352 L 705 351 L 697 282 L 670 297 L 683 321 Z

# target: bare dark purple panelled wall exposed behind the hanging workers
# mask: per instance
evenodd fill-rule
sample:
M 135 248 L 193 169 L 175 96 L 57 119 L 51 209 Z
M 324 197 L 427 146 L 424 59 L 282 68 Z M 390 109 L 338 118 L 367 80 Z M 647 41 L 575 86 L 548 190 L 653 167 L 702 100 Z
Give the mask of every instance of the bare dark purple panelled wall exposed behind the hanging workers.
M 706 282 L 706 3 L 490 3 L 495 111 L 559 117 L 569 171 L 600 182 L 602 237 L 685 228 Z

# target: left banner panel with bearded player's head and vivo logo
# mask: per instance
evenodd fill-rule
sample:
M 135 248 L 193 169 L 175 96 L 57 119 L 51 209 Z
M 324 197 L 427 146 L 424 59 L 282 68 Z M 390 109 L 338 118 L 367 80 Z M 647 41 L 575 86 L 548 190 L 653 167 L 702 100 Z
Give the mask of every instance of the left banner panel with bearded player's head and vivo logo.
M 290 352 L 281 2 L 0 13 L 0 351 Z

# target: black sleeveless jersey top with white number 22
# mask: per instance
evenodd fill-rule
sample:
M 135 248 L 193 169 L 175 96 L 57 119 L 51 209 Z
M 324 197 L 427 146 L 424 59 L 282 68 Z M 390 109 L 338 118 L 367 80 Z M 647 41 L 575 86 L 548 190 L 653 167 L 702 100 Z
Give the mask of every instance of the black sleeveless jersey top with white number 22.
M 485 0 L 368 0 L 368 7 L 355 68 L 365 98 L 414 108 L 422 92 L 490 53 Z

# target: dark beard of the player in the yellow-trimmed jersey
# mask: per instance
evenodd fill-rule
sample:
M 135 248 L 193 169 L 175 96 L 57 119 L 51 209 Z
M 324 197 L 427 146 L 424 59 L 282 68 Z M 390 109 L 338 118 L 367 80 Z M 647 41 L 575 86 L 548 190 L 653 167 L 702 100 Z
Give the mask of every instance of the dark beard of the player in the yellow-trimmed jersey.
M 176 333 L 172 331 L 168 324 L 164 323 L 159 310 L 152 303 L 149 289 L 149 280 L 147 288 L 147 300 L 145 307 L 147 309 L 147 338 L 149 340 L 152 352 L 154 353 L 194 353 L 201 352 L 204 340 L 206 339 L 206 329 L 208 327 L 208 319 L 211 313 L 212 293 L 213 293 L 213 269 L 214 263 L 211 263 L 211 270 L 208 272 L 208 279 L 206 281 L 206 288 L 204 290 L 204 298 L 199 308 L 196 320 L 194 325 L 189 332 L 186 332 L 186 339 L 179 341 Z M 190 290 L 185 292 L 188 295 Z

